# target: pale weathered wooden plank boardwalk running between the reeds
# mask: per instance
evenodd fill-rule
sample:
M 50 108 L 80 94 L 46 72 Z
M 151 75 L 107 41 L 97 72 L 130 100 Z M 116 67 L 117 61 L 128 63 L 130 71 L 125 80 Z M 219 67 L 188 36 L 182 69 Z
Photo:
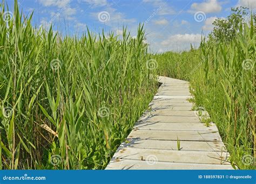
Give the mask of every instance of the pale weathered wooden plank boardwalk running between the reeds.
M 140 117 L 106 169 L 233 169 L 215 124 L 207 127 L 191 110 L 189 83 L 163 76 L 159 82 L 151 110 Z

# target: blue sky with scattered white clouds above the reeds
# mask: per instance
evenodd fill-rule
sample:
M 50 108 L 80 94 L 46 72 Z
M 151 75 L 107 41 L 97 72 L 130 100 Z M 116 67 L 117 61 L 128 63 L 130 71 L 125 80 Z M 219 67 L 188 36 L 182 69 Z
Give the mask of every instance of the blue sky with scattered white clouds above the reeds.
M 10 11 L 14 0 L 5 0 Z M 190 43 L 198 46 L 201 33 L 212 30 L 214 19 L 230 15 L 231 7 L 255 9 L 255 0 L 18 0 L 25 14 L 34 11 L 33 25 L 49 27 L 64 34 L 80 35 L 86 30 L 122 34 L 125 25 L 136 36 L 145 24 L 146 43 L 152 52 L 182 51 Z

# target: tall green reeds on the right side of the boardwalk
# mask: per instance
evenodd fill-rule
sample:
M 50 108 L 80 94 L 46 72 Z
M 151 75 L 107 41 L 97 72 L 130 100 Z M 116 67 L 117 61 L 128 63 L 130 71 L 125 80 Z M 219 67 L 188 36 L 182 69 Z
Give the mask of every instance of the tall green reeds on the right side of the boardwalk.
M 210 114 L 241 169 L 255 168 L 255 39 L 251 20 L 231 43 L 203 40 L 199 49 L 155 56 L 158 74 L 190 81 L 194 102 Z

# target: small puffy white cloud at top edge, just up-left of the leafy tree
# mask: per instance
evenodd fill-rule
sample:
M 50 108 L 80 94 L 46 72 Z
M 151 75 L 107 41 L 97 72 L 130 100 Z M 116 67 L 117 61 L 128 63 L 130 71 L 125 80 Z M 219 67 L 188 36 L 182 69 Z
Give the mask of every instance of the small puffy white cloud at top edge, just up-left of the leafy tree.
M 203 3 L 193 3 L 190 12 L 203 11 L 205 13 L 220 12 L 222 7 L 218 0 L 207 0 Z

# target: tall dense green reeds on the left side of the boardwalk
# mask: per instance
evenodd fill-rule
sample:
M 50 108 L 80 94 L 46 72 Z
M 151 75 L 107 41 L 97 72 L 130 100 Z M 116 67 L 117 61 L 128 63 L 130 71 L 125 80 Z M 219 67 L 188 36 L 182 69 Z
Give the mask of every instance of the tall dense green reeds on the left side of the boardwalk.
M 69 37 L 1 6 L 1 168 L 103 169 L 157 90 L 143 26 Z

